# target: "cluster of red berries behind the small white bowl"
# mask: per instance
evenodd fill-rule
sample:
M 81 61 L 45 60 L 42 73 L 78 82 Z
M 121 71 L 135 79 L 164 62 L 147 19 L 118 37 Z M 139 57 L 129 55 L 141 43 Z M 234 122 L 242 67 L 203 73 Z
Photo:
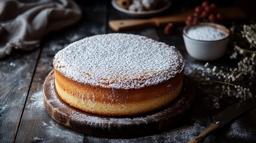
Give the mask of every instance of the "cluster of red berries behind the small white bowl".
M 202 2 L 202 5 L 198 5 L 195 8 L 194 14 L 190 14 L 187 16 L 186 25 L 190 26 L 193 24 L 197 24 L 202 21 L 210 21 L 212 23 L 220 23 L 224 20 L 223 15 L 217 13 L 216 4 L 209 4 L 207 1 Z

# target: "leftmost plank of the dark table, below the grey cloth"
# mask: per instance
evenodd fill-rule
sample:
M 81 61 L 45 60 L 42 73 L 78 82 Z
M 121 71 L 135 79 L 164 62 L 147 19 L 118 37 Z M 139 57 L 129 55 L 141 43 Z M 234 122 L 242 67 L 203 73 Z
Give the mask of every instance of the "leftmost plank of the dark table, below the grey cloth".
M 16 137 L 39 51 L 0 61 L 0 142 L 13 142 Z

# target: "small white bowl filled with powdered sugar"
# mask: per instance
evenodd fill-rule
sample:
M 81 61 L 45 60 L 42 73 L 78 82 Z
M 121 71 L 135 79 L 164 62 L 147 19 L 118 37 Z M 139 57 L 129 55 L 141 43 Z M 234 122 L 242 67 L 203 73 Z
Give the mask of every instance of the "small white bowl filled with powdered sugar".
M 185 27 L 183 39 L 191 57 L 197 60 L 211 61 L 226 53 L 230 31 L 220 24 L 200 23 Z

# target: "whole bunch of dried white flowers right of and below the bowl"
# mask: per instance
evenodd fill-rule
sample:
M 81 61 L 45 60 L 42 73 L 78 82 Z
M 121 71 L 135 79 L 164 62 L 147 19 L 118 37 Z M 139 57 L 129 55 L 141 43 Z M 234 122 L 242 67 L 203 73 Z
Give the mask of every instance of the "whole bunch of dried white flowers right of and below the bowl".
M 219 108 L 219 101 L 226 97 L 236 97 L 241 101 L 254 97 L 250 88 L 256 82 L 256 24 L 233 26 L 230 30 L 234 35 L 230 59 L 238 61 L 237 66 L 217 68 L 206 63 L 190 74 L 212 98 L 214 108 Z

